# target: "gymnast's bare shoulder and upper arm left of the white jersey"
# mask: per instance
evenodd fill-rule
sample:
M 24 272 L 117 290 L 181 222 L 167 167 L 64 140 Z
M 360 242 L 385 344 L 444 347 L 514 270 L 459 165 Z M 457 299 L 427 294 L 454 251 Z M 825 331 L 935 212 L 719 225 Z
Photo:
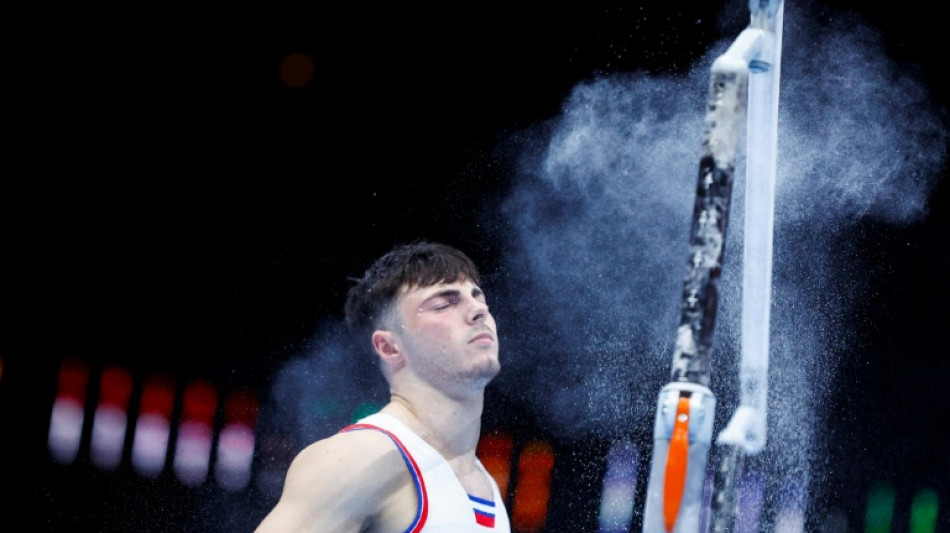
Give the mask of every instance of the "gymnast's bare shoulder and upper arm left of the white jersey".
M 352 431 L 294 458 L 280 500 L 255 533 L 359 533 L 398 526 L 403 517 L 408 526 L 414 512 L 414 487 L 392 441 L 377 431 Z

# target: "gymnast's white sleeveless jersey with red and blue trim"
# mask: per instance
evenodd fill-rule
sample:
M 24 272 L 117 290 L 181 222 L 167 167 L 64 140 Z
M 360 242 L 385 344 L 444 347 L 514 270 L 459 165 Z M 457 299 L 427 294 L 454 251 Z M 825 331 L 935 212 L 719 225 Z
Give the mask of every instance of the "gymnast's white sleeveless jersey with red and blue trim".
M 494 501 L 467 494 L 442 454 L 399 420 L 375 413 L 341 431 L 356 430 L 381 431 L 402 453 L 419 496 L 416 518 L 406 533 L 511 533 L 498 484 L 478 459 L 478 468 L 491 481 Z

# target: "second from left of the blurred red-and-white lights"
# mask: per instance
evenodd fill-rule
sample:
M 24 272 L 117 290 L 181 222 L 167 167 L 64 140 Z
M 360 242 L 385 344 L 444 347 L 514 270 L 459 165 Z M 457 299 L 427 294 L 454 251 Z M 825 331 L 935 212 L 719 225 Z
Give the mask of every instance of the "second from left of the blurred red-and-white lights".
M 114 470 L 122 461 L 129 419 L 132 375 L 119 366 L 109 366 L 99 379 L 99 403 L 92 420 L 89 452 L 101 470 Z

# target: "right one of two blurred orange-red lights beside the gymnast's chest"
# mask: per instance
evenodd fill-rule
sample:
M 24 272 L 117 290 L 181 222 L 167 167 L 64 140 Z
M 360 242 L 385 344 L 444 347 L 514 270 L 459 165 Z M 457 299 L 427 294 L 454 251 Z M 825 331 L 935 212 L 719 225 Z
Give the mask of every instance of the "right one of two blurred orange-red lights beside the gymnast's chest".
M 522 448 L 511 510 L 511 525 L 519 532 L 535 533 L 544 526 L 553 469 L 554 451 L 550 444 L 535 440 Z

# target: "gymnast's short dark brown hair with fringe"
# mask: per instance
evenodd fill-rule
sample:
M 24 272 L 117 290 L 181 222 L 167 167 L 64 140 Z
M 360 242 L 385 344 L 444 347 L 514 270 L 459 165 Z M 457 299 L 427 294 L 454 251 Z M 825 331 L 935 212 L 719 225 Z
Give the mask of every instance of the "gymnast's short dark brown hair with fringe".
M 447 244 L 416 240 L 399 244 L 378 258 L 363 277 L 353 279 L 346 296 L 346 324 L 357 335 L 375 330 L 405 287 L 429 287 L 468 279 L 481 283 L 475 263 Z

